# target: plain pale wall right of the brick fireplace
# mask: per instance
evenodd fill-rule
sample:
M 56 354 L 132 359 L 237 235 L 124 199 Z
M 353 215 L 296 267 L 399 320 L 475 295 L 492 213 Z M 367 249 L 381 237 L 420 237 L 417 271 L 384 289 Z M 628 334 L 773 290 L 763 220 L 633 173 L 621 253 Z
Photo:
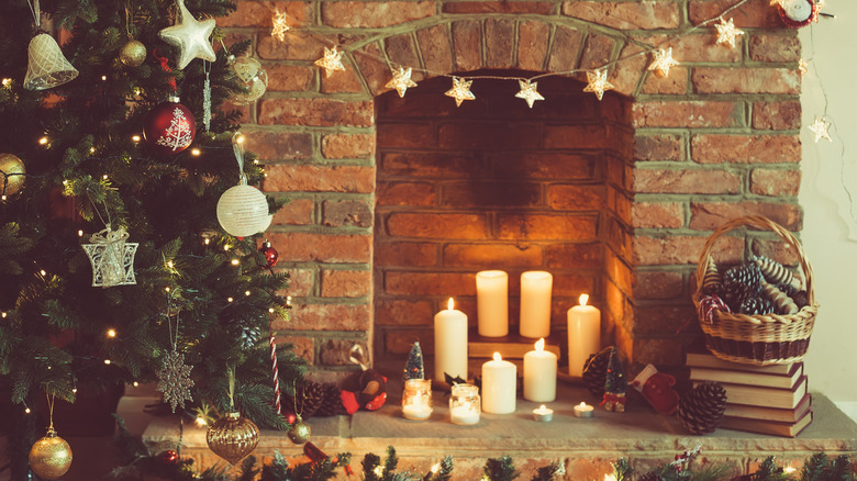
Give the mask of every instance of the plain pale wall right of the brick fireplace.
M 815 270 L 816 299 L 821 303 L 805 369 L 812 390 L 857 413 L 857 2 L 827 0 L 821 19 L 800 33 L 803 58 L 810 70 L 803 78 L 803 179 L 800 202 L 804 208 L 801 234 Z M 832 122 L 831 137 L 814 142 L 806 128 L 815 116 Z M 852 212 L 852 208 L 854 213 Z

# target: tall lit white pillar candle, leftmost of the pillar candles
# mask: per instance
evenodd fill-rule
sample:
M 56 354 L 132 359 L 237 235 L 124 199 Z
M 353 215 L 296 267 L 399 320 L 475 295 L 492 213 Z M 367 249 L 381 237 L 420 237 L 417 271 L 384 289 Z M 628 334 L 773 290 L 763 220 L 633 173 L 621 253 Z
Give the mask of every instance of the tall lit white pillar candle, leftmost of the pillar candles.
M 448 309 L 434 316 L 434 379 L 446 382 L 445 373 L 467 379 L 467 314 Z

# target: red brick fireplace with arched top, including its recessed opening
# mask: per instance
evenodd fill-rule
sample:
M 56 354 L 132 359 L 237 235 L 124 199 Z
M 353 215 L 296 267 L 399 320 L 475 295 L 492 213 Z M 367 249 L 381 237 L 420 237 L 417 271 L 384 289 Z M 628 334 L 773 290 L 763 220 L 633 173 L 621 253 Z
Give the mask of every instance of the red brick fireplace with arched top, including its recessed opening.
M 238 2 L 219 21 L 249 38 L 268 93 L 246 113 L 264 189 L 291 203 L 268 237 L 291 272 L 293 318 L 275 327 L 319 371 L 347 369 L 347 349 L 431 351 L 432 315 L 448 297 L 476 321 L 475 273 L 555 276 L 553 323 L 580 292 L 603 335 L 635 362 L 682 362 L 693 336 L 697 258 L 713 228 L 758 213 L 799 231 L 800 44 L 768 0 L 728 16 L 746 31 L 715 45 L 712 27 L 669 43 L 669 77 L 646 70 L 657 44 L 737 0 Z M 293 29 L 271 38 L 274 9 Z M 346 71 L 312 63 L 346 51 Z M 383 59 L 383 60 L 381 60 Z M 476 79 L 456 109 L 443 75 L 532 77 L 608 63 L 615 91 L 583 93 L 582 74 L 543 78 L 531 110 L 511 80 Z M 414 67 L 404 99 L 383 86 Z M 425 75 L 421 70 L 430 70 Z M 722 240 L 736 259 L 764 233 Z M 776 254 L 775 254 L 776 253 Z M 510 302 L 516 322 L 516 300 Z

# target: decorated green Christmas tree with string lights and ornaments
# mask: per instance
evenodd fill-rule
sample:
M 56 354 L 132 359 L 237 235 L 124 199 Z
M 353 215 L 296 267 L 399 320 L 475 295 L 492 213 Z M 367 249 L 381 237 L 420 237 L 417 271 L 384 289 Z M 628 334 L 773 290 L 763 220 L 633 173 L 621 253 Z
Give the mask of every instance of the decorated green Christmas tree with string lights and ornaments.
M 246 99 L 229 57 L 247 45 L 209 37 L 209 19 L 234 2 L 38 8 L 0 7 L 0 411 L 11 417 L 12 479 L 26 477 L 44 434 L 46 393 L 74 403 L 159 380 L 171 407 L 192 399 L 223 413 L 234 369 L 235 409 L 285 427 L 272 379 L 293 385 L 303 365 L 280 348 L 272 374 L 267 332 L 288 315 L 288 276 L 252 235 L 281 202 L 263 198 L 263 222 L 246 233 L 235 228 L 252 214 L 218 217 L 227 189 L 264 178 L 242 152 L 238 112 L 221 109 Z M 38 29 L 51 34 L 38 42 L 62 46 L 31 45 Z M 171 96 L 185 108 L 165 103 Z

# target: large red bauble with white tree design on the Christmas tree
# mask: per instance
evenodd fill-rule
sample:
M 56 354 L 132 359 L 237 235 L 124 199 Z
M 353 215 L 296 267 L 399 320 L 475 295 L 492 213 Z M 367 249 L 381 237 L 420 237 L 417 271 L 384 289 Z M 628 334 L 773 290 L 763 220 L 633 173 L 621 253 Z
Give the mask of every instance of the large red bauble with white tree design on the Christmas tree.
M 143 121 L 143 137 L 159 154 L 178 154 L 197 135 L 197 121 L 178 98 L 156 105 Z

